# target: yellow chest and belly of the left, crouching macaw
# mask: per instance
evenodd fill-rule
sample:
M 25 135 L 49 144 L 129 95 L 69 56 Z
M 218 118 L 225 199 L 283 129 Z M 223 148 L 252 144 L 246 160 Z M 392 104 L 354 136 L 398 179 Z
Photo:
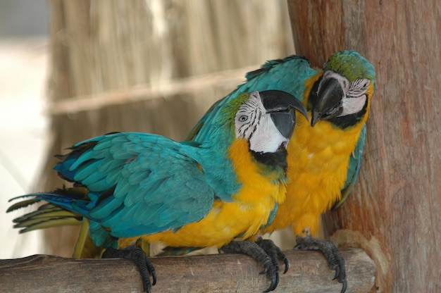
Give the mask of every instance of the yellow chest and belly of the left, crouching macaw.
M 198 222 L 142 238 L 170 247 L 222 247 L 235 237 L 246 239 L 255 235 L 267 223 L 275 203 L 285 199 L 285 185 L 280 183 L 277 174 L 261 172 L 258 163 L 249 154 L 246 141 L 235 142 L 229 156 L 235 165 L 237 178 L 242 182 L 240 191 L 233 194 L 232 202 L 216 200 L 208 215 Z M 120 239 L 120 247 L 136 239 Z

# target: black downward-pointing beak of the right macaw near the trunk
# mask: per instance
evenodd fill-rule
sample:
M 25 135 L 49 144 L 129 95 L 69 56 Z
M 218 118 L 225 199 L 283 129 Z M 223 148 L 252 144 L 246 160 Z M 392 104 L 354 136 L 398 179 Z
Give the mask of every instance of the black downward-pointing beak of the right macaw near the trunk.
M 321 85 L 312 110 L 311 126 L 318 120 L 328 120 L 342 113 L 343 89 L 340 82 L 330 77 Z

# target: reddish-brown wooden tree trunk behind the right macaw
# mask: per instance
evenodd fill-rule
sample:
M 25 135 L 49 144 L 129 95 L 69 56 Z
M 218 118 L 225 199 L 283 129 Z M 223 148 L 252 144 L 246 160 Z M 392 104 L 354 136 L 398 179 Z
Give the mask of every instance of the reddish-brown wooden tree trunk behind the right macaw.
M 326 232 L 370 254 L 373 292 L 440 292 L 439 2 L 288 6 L 297 54 L 321 67 L 335 51 L 354 49 L 377 73 L 359 182 L 347 203 L 325 216 Z

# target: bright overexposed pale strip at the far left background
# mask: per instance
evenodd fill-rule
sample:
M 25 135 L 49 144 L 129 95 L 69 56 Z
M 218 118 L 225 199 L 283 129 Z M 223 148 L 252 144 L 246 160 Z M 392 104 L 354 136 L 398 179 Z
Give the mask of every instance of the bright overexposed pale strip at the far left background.
M 18 235 L 8 199 L 34 189 L 46 157 L 49 7 L 45 0 L 0 1 L 0 258 L 42 251 L 42 233 Z

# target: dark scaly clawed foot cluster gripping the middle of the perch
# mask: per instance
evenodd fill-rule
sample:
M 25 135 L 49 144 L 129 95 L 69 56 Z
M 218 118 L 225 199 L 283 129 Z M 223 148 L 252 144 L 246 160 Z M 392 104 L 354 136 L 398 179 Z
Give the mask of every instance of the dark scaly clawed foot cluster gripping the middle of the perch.
M 221 247 L 221 250 L 225 253 L 247 254 L 259 261 L 263 265 L 263 270 L 260 274 L 266 274 L 271 280 L 270 287 L 263 292 L 270 292 L 277 287 L 280 280 L 278 261 L 281 260 L 285 263 L 284 273 L 289 268 L 289 263 L 285 254 L 271 240 L 259 239 L 258 242 L 232 241 Z

